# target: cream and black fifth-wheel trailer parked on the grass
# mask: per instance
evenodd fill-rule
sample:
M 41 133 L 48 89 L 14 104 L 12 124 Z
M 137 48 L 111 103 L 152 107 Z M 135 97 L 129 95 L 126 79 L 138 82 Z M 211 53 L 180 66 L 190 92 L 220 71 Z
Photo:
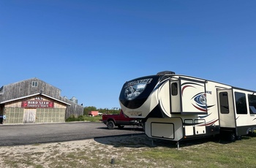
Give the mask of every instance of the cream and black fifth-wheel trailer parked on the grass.
M 224 133 L 231 141 L 256 129 L 256 91 L 159 72 L 124 83 L 121 109 L 142 118 L 148 137 L 181 140 Z

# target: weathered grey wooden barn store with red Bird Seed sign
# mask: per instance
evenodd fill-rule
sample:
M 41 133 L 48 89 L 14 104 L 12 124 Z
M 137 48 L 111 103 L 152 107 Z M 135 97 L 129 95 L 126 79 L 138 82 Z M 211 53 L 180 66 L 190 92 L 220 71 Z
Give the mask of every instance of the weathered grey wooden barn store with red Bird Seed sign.
M 83 115 L 77 99 L 60 96 L 61 90 L 34 77 L 0 88 L 0 123 L 58 123 Z

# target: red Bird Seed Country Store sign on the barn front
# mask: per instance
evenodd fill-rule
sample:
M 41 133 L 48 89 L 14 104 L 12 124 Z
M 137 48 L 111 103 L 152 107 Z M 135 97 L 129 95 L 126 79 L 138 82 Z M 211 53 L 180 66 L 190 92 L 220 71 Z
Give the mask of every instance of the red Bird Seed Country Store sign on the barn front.
M 40 101 L 40 100 L 23 101 L 21 103 L 21 107 L 53 108 L 54 102 Z

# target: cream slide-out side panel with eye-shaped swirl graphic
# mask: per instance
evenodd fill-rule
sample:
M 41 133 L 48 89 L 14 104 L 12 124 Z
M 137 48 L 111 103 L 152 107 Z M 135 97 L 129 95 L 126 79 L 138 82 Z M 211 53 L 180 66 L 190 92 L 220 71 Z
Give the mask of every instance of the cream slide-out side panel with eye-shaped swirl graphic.
M 181 79 L 181 113 L 207 114 L 206 81 Z

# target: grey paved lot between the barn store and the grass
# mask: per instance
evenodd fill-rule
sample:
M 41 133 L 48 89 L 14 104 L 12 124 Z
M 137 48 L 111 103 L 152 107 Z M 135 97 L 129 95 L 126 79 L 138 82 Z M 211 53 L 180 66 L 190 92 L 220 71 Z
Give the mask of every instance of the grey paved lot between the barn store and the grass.
M 143 131 L 138 126 L 110 130 L 103 123 L 91 122 L 0 125 L 0 146 L 67 142 L 141 133 Z

